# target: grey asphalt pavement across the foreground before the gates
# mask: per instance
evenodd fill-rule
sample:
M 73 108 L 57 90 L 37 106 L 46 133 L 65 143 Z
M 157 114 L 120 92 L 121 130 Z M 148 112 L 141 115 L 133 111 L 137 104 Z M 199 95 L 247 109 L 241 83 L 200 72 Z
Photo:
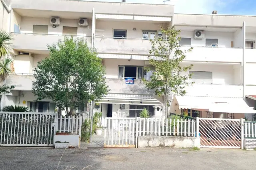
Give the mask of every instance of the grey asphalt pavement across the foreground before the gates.
M 64 149 L 2 147 L 0 170 L 56 170 L 63 151 Z M 252 170 L 255 167 L 256 151 L 67 149 L 58 170 Z

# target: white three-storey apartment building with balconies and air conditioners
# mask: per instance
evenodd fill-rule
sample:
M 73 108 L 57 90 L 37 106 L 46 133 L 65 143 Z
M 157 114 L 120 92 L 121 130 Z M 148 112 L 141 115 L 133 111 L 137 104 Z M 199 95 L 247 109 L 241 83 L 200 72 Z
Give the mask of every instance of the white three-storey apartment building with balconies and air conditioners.
M 5 83 L 16 87 L 2 96 L 2 107 L 20 104 L 36 112 L 54 111 L 49 99 L 34 102 L 33 68 L 48 56 L 47 44 L 79 36 L 97 49 L 111 89 L 94 111 L 102 111 L 103 118 L 135 117 L 146 107 L 160 117 L 163 99 L 147 90 L 141 78 L 150 78 L 150 72 L 143 71 L 149 64 L 149 39 L 162 34 L 160 26 L 175 25 L 181 30 L 181 48 L 194 47 L 181 65 L 194 64 L 182 74 L 193 73 L 190 81 L 195 84 L 186 88 L 185 96 L 172 96 L 169 112 L 186 109 L 191 116 L 199 111 L 201 117 L 222 118 L 244 113 L 252 118 L 255 113 L 254 16 L 174 14 L 174 5 L 79 0 L 12 0 L 10 15 L 15 74 Z M 83 105 L 77 108 L 81 110 Z

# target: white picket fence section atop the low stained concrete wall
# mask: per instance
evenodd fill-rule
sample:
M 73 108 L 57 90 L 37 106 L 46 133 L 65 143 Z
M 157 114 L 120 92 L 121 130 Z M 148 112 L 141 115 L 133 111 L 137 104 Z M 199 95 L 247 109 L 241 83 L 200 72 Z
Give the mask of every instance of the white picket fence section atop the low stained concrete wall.
M 137 117 L 138 136 L 196 136 L 196 120 Z

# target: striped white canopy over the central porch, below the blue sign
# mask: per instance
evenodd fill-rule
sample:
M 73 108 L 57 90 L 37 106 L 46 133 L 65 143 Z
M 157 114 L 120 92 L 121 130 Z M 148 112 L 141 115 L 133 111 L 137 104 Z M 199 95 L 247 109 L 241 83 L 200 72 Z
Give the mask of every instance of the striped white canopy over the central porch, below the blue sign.
M 162 106 L 163 104 L 154 98 L 153 95 L 143 94 L 107 94 L 101 101 L 95 103 L 102 104 L 129 104 L 145 106 Z

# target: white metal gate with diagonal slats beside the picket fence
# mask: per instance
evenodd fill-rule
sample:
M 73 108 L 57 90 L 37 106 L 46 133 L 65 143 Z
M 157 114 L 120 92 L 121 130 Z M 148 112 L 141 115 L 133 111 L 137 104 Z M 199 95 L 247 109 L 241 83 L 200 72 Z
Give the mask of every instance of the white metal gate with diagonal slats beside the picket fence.
M 240 148 L 240 119 L 198 118 L 202 148 Z

